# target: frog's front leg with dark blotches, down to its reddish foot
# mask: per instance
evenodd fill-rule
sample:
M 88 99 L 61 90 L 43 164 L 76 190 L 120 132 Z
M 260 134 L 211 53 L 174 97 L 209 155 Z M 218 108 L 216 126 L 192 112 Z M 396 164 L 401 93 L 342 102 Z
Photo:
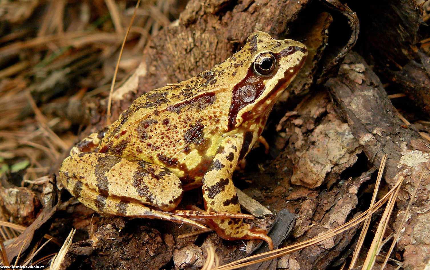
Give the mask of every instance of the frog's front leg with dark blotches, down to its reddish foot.
M 240 213 L 232 175 L 240 161 L 243 141 L 240 136 L 224 138 L 204 175 L 202 181 L 206 211 Z M 212 219 L 209 224 L 224 239 L 262 239 L 273 249 L 272 239 L 267 236 L 266 230 L 251 227 L 243 223 L 241 218 Z

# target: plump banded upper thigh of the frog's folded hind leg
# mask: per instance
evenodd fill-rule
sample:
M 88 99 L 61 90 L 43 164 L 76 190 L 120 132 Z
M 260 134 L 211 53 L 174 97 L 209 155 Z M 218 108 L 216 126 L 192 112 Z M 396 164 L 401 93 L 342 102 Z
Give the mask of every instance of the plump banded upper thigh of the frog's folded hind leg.
M 129 161 L 104 153 L 80 153 L 61 164 L 60 177 L 68 190 L 76 178 L 105 197 L 156 206 L 169 211 L 182 198 L 179 178 L 168 169 L 144 161 Z

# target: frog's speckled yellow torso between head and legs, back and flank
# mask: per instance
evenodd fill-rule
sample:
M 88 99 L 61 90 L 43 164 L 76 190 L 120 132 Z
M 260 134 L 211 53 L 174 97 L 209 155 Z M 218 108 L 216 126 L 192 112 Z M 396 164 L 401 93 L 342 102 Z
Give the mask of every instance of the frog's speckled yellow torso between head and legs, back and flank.
M 98 151 L 166 166 L 185 182 L 203 176 L 231 99 L 213 71 L 141 95 L 105 131 Z

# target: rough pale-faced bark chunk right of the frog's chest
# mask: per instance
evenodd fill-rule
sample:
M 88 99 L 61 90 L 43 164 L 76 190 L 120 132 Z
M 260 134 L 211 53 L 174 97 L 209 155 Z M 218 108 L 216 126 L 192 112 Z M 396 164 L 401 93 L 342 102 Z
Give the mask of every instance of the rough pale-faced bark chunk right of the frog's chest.
M 349 126 L 333 110 L 327 92 L 307 96 L 294 111 L 285 122 L 289 144 L 284 152 L 294 164 L 291 183 L 313 189 L 337 182 L 362 151 Z

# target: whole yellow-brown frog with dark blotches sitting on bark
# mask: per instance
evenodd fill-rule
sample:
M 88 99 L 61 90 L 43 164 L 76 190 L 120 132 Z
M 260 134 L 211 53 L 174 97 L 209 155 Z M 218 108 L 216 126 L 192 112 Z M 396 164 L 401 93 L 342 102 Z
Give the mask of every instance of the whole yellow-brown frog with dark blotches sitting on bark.
M 61 182 L 100 213 L 209 226 L 224 239 L 263 239 L 272 249 L 265 230 L 243 222 L 253 217 L 241 214 L 232 175 L 306 55 L 302 43 L 253 33 L 212 70 L 141 95 L 77 144 Z M 176 210 L 184 190 L 197 187 L 206 211 Z

